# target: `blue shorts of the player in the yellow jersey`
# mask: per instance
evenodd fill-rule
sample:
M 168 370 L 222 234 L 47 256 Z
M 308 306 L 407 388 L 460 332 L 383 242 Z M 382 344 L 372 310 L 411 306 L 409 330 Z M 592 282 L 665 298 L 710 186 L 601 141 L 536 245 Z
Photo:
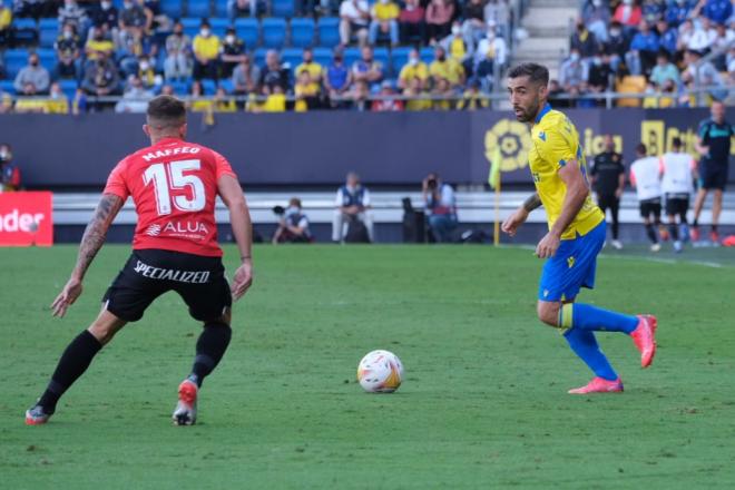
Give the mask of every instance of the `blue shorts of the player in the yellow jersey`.
M 543 264 L 539 300 L 572 300 L 581 287 L 595 287 L 597 254 L 605 244 L 606 227 L 601 222 L 585 236 L 561 241 L 556 255 Z

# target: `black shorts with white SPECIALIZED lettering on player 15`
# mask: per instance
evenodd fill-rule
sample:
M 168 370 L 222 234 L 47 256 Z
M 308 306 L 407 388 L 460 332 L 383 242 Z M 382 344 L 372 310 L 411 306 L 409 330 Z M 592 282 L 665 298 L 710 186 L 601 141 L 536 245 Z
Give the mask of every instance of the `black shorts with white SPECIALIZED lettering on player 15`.
M 176 291 L 202 322 L 219 318 L 233 303 L 219 257 L 160 249 L 133 251 L 102 302 L 114 315 L 137 322 L 168 291 Z

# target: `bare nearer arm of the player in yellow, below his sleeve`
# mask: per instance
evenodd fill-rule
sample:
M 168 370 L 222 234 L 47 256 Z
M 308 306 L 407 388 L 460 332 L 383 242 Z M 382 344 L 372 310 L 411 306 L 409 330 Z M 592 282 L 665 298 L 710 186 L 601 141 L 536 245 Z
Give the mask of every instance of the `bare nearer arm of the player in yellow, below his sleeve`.
M 561 242 L 561 234 L 575 220 L 579 209 L 585 204 L 585 199 L 589 195 L 589 186 L 576 160 L 569 160 L 561 167 L 559 169 L 559 177 L 567 185 L 567 195 L 561 205 L 561 214 L 559 214 L 549 233 L 541 238 L 541 242 L 536 247 L 536 255 L 540 258 L 552 257 L 557 253 L 557 248 L 559 248 L 559 243 Z

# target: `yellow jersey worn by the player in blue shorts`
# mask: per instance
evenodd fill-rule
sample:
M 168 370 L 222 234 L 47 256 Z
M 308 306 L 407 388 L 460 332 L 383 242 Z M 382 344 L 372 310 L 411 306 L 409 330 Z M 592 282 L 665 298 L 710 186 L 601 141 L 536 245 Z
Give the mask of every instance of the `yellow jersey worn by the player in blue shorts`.
M 559 177 L 565 165 L 578 165 L 587 180 L 587 161 L 579 144 L 577 128 L 567 116 L 546 105 L 531 128 L 531 150 L 528 154 L 536 190 L 546 208 L 549 229 L 561 214 L 567 185 Z M 561 234 L 561 239 L 572 239 L 586 235 L 599 225 L 605 215 L 588 194 L 582 207 Z

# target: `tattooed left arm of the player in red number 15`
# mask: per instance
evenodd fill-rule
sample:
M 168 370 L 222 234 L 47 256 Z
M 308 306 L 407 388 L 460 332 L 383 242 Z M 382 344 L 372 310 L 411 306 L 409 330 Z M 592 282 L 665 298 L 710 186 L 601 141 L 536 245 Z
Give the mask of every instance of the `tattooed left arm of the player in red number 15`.
M 71 277 L 51 304 L 53 316 L 63 316 L 67 308 L 81 295 L 81 282 L 85 274 L 95 259 L 97 252 L 105 244 L 107 231 L 124 204 L 125 200 L 115 194 L 102 195 L 97 205 L 97 210 L 95 210 L 95 216 L 92 216 L 81 237 L 77 265 L 71 272 Z

